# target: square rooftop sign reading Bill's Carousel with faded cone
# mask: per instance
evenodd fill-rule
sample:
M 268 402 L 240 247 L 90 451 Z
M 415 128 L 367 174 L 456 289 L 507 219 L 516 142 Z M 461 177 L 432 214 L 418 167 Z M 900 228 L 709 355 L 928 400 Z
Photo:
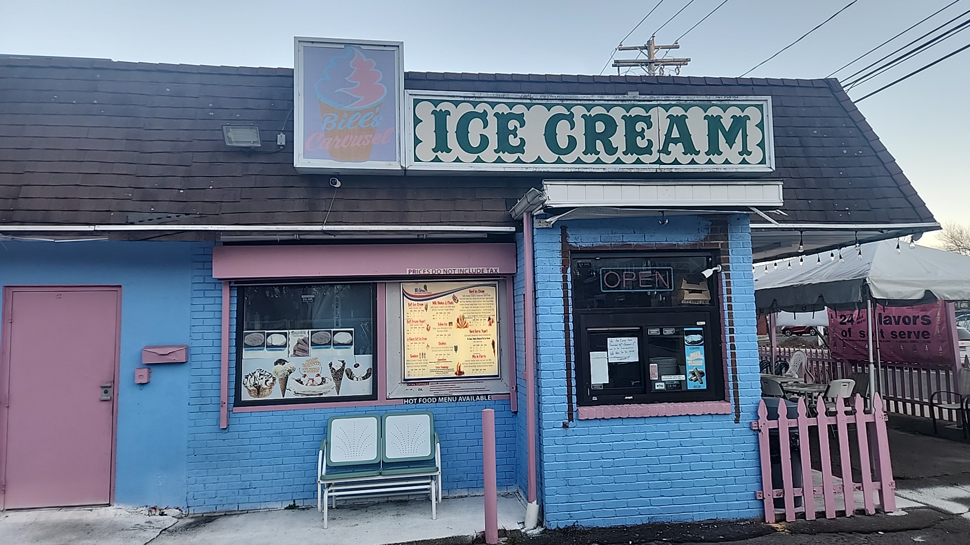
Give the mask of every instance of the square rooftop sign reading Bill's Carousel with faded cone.
M 296 39 L 300 172 L 401 170 L 400 42 Z

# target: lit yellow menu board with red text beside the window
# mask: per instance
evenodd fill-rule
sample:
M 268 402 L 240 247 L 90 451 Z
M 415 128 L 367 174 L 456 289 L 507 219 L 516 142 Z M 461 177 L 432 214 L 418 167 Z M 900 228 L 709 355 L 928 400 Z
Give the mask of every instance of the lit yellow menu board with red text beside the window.
M 404 380 L 499 376 L 498 284 L 404 283 Z

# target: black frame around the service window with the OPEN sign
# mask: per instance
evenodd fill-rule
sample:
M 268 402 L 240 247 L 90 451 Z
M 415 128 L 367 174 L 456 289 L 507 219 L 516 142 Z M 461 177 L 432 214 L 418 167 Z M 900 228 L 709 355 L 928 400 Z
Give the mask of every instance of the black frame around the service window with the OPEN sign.
M 572 318 L 572 332 L 575 339 L 575 371 L 576 371 L 576 401 L 579 406 L 599 406 L 615 404 L 650 404 L 650 403 L 683 403 L 702 401 L 725 401 L 725 381 L 727 369 L 723 353 L 723 323 L 724 310 L 721 305 L 719 282 L 720 277 L 713 274 L 707 280 L 707 287 L 711 299 L 709 305 L 673 305 L 673 306 L 630 306 L 630 307 L 601 307 L 580 308 L 577 304 L 577 294 L 573 288 L 577 272 L 575 260 L 589 258 L 663 258 L 663 257 L 704 257 L 708 260 L 708 267 L 715 267 L 721 263 L 720 252 L 716 249 L 688 249 L 688 250 L 598 250 L 584 249 L 570 251 L 570 305 Z M 635 317 L 635 318 L 631 318 Z M 702 317 L 702 319 L 698 319 Z M 691 321 L 693 320 L 693 321 Z M 690 322 L 690 323 L 687 323 Z M 680 390 L 671 392 L 652 392 L 649 386 L 649 338 L 648 326 L 669 326 L 676 328 L 696 327 L 696 322 L 705 322 L 705 364 L 709 380 L 709 387 L 704 390 Z M 590 370 L 590 341 L 587 330 L 615 329 L 638 332 L 640 370 L 643 376 L 642 386 L 637 392 L 609 392 L 595 393 L 591 384 Z M 608 391 L 607 391 L 608 392 Z M 596 398 L 594 400 L 593 398 Z

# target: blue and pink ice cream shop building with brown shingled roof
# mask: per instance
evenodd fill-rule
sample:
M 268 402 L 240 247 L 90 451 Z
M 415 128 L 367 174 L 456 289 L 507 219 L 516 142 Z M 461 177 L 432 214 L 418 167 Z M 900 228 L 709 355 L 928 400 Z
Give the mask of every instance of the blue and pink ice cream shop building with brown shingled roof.
M 477 495 L 493 408 L 547 527 L 756 517 L 752 260 L 936 227 L 835 80 L 295 52 L 0 57 L 0 508 L 315 505 L 397 413 Z

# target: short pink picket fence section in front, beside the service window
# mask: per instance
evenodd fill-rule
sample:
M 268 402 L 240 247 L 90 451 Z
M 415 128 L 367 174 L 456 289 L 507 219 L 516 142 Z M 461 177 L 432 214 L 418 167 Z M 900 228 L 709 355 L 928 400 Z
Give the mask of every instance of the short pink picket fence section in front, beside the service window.
M 776 520 L 775 498 L 782 498 L 785 520 L 789 522 L 794 521 L 799 512 L 805 519 L 815 520 L 820 514 L 833 519 L 840 512 L 851 517 L 857 509 L 872 515 L 877 505 L 884 512 L 895 511 L 887 416 L 878 394 L 874 401 L 868 411 L 861 396 L 851 401 L 829 401 L 829 408 L 825 410 L 824 400 L 820 397 L 816 404 L 820 408 L 818 414 L 809 416 L 805 401 L 799 400 L 798 416 L 790 418 L 785 401 L 779 399 L 777 419 L 768 418 L 768 407 L 765 401 L 760 401 L 758 420 L 751 423 L 751 429 L 758 432 L 762 489 L 757 494 L 764 501 L 766 522 Z M 792 472 L 792 434 L 797 435 L 800 445 L 797 460 L 801 468 L 797 474 L 801 477 L 801 486 L 795 486 Z M 773 435 L 778 438 L 779 452 L 775 453 L 771 452 Z M 856 448 L 852 449 L 851 445 Z M 780 465 L 780 482 L 774 482 L 772 477 L 772 454 L 774 458 L 780 458 L 774 463 L 776 472 Z M 838 475 L 833 475 L 833 459 L 838 463 Z M 858 463 L 860 482 L 855 482 L 853 477 L 854 459 Z M 813 467 L 813 461 L 818 467 Z M 861 493 L 860 497 L 857 498 L 856 493 Z M 795 498 L 799 497 L 802 505 L 796 509 Z

